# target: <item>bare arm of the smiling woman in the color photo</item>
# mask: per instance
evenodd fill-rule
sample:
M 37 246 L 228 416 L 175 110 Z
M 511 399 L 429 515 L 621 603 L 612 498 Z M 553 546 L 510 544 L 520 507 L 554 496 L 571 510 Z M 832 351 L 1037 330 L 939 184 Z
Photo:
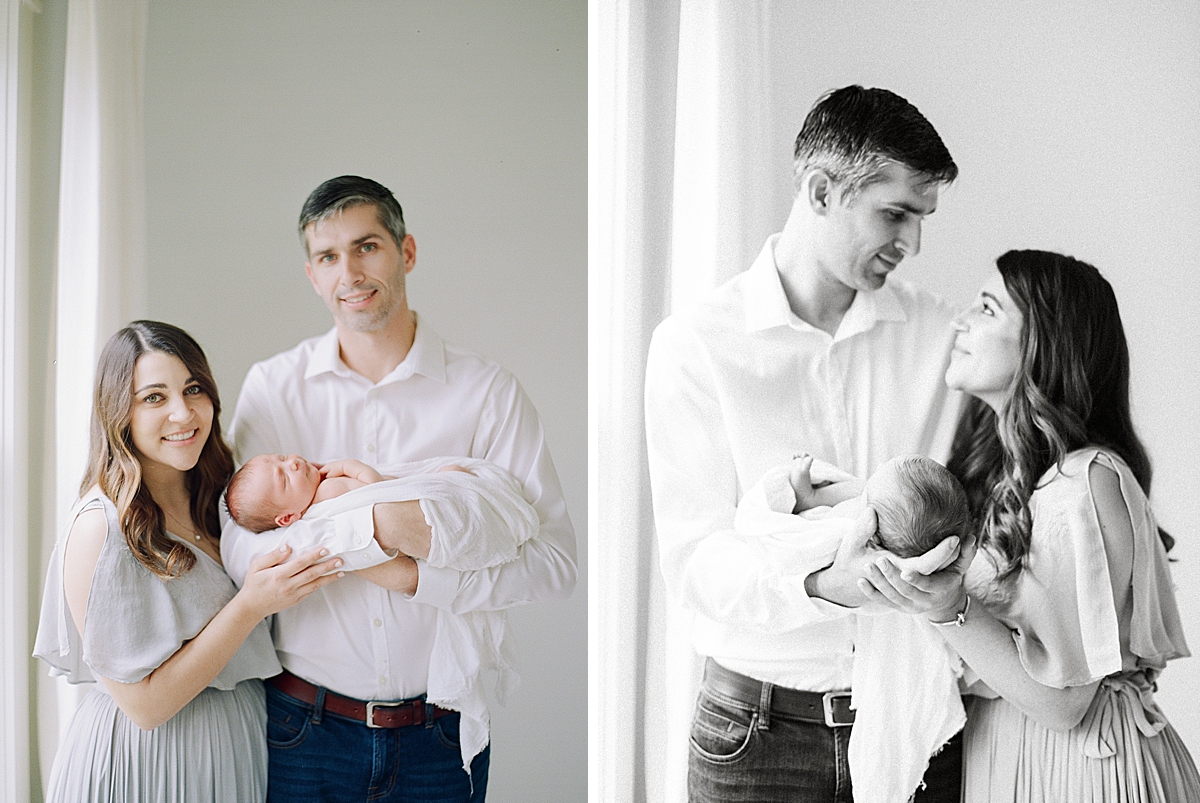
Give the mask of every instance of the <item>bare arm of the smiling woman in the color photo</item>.
M 62 565 L 67 607 L 83 633 L 91 577 L 104 545 L 108 523 L 103 510 L 80 514 L 71 528 Z M 290 547 L 260 556 L 251 564 L 241 591 L 200 633 L 184 643 L 137 683 L 102 677 L 108 693 L 130 720 L 149 731 L 178 714 L 224 669 L 251 630 L 266 616 L 295 605 L 343 573 L 324 575 L 340 559 L 320 563 L 324 550 L 313 550 L 284 563 Z

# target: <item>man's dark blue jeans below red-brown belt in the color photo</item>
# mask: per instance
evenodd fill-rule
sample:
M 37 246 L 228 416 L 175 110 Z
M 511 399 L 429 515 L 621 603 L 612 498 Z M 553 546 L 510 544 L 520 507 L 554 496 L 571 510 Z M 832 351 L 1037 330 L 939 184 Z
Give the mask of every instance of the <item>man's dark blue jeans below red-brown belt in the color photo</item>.
M 373 729 L 266 687 L 266 799 L 271 803 L 480 803 L 491 748 L 463 772 L 457 713 Z

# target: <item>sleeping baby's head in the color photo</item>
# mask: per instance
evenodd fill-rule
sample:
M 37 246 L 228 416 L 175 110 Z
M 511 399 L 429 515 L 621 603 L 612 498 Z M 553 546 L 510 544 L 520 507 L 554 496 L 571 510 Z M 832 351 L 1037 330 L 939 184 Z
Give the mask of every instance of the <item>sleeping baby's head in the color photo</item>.
M 252 533 L 286 527 L 317 495 L 320 471 L 300 455 L 258 455 L 229 480 L 229 515 Z

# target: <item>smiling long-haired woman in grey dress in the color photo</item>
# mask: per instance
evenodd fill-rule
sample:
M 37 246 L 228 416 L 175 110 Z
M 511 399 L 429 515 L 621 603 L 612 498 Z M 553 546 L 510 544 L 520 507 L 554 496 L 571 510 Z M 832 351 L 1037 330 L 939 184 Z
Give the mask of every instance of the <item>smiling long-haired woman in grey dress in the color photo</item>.
M 218 501 L 233 459 L 200 347 L 137 320 L 96 368 L 79 503 L 50 558 L 35 655 L 72 683 L 76 711 L 47 801 L 262 801 L 276 675 L 264 617 L 341 573 L 286 551 L 241 591 L 221 565 Z

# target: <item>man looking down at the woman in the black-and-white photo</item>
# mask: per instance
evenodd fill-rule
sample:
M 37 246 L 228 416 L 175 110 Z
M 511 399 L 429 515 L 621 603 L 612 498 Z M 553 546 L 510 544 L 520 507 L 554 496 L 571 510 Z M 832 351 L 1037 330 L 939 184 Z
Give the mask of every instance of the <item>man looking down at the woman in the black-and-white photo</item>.
M 708 657 L 694 801 L 851 799 L 852 609 L 868 603 L 860 582 L 888 583 L 864 549 L 874 516 L 832 567 L 814 559 L 793 575 L 738 538 L 733 517 L 744 491 L 800 453 L 858 477 L 901 454 L 944 461 L 959 405 L 942 380 L 953 313 L 888 275 L 917 254 L 922 221 L 956 174 L 904 98 L 828 94 L 797 137 L 784 230 L 654 334 L 646 418 L 662 571 Z M 947 539 L 917 569 L 961 573 L 958 556 Z M 929 610 L 953 604 L 947 579 L 926 579 Z M 958 750 L 934 759 L 918 801 L 958 801 Z

